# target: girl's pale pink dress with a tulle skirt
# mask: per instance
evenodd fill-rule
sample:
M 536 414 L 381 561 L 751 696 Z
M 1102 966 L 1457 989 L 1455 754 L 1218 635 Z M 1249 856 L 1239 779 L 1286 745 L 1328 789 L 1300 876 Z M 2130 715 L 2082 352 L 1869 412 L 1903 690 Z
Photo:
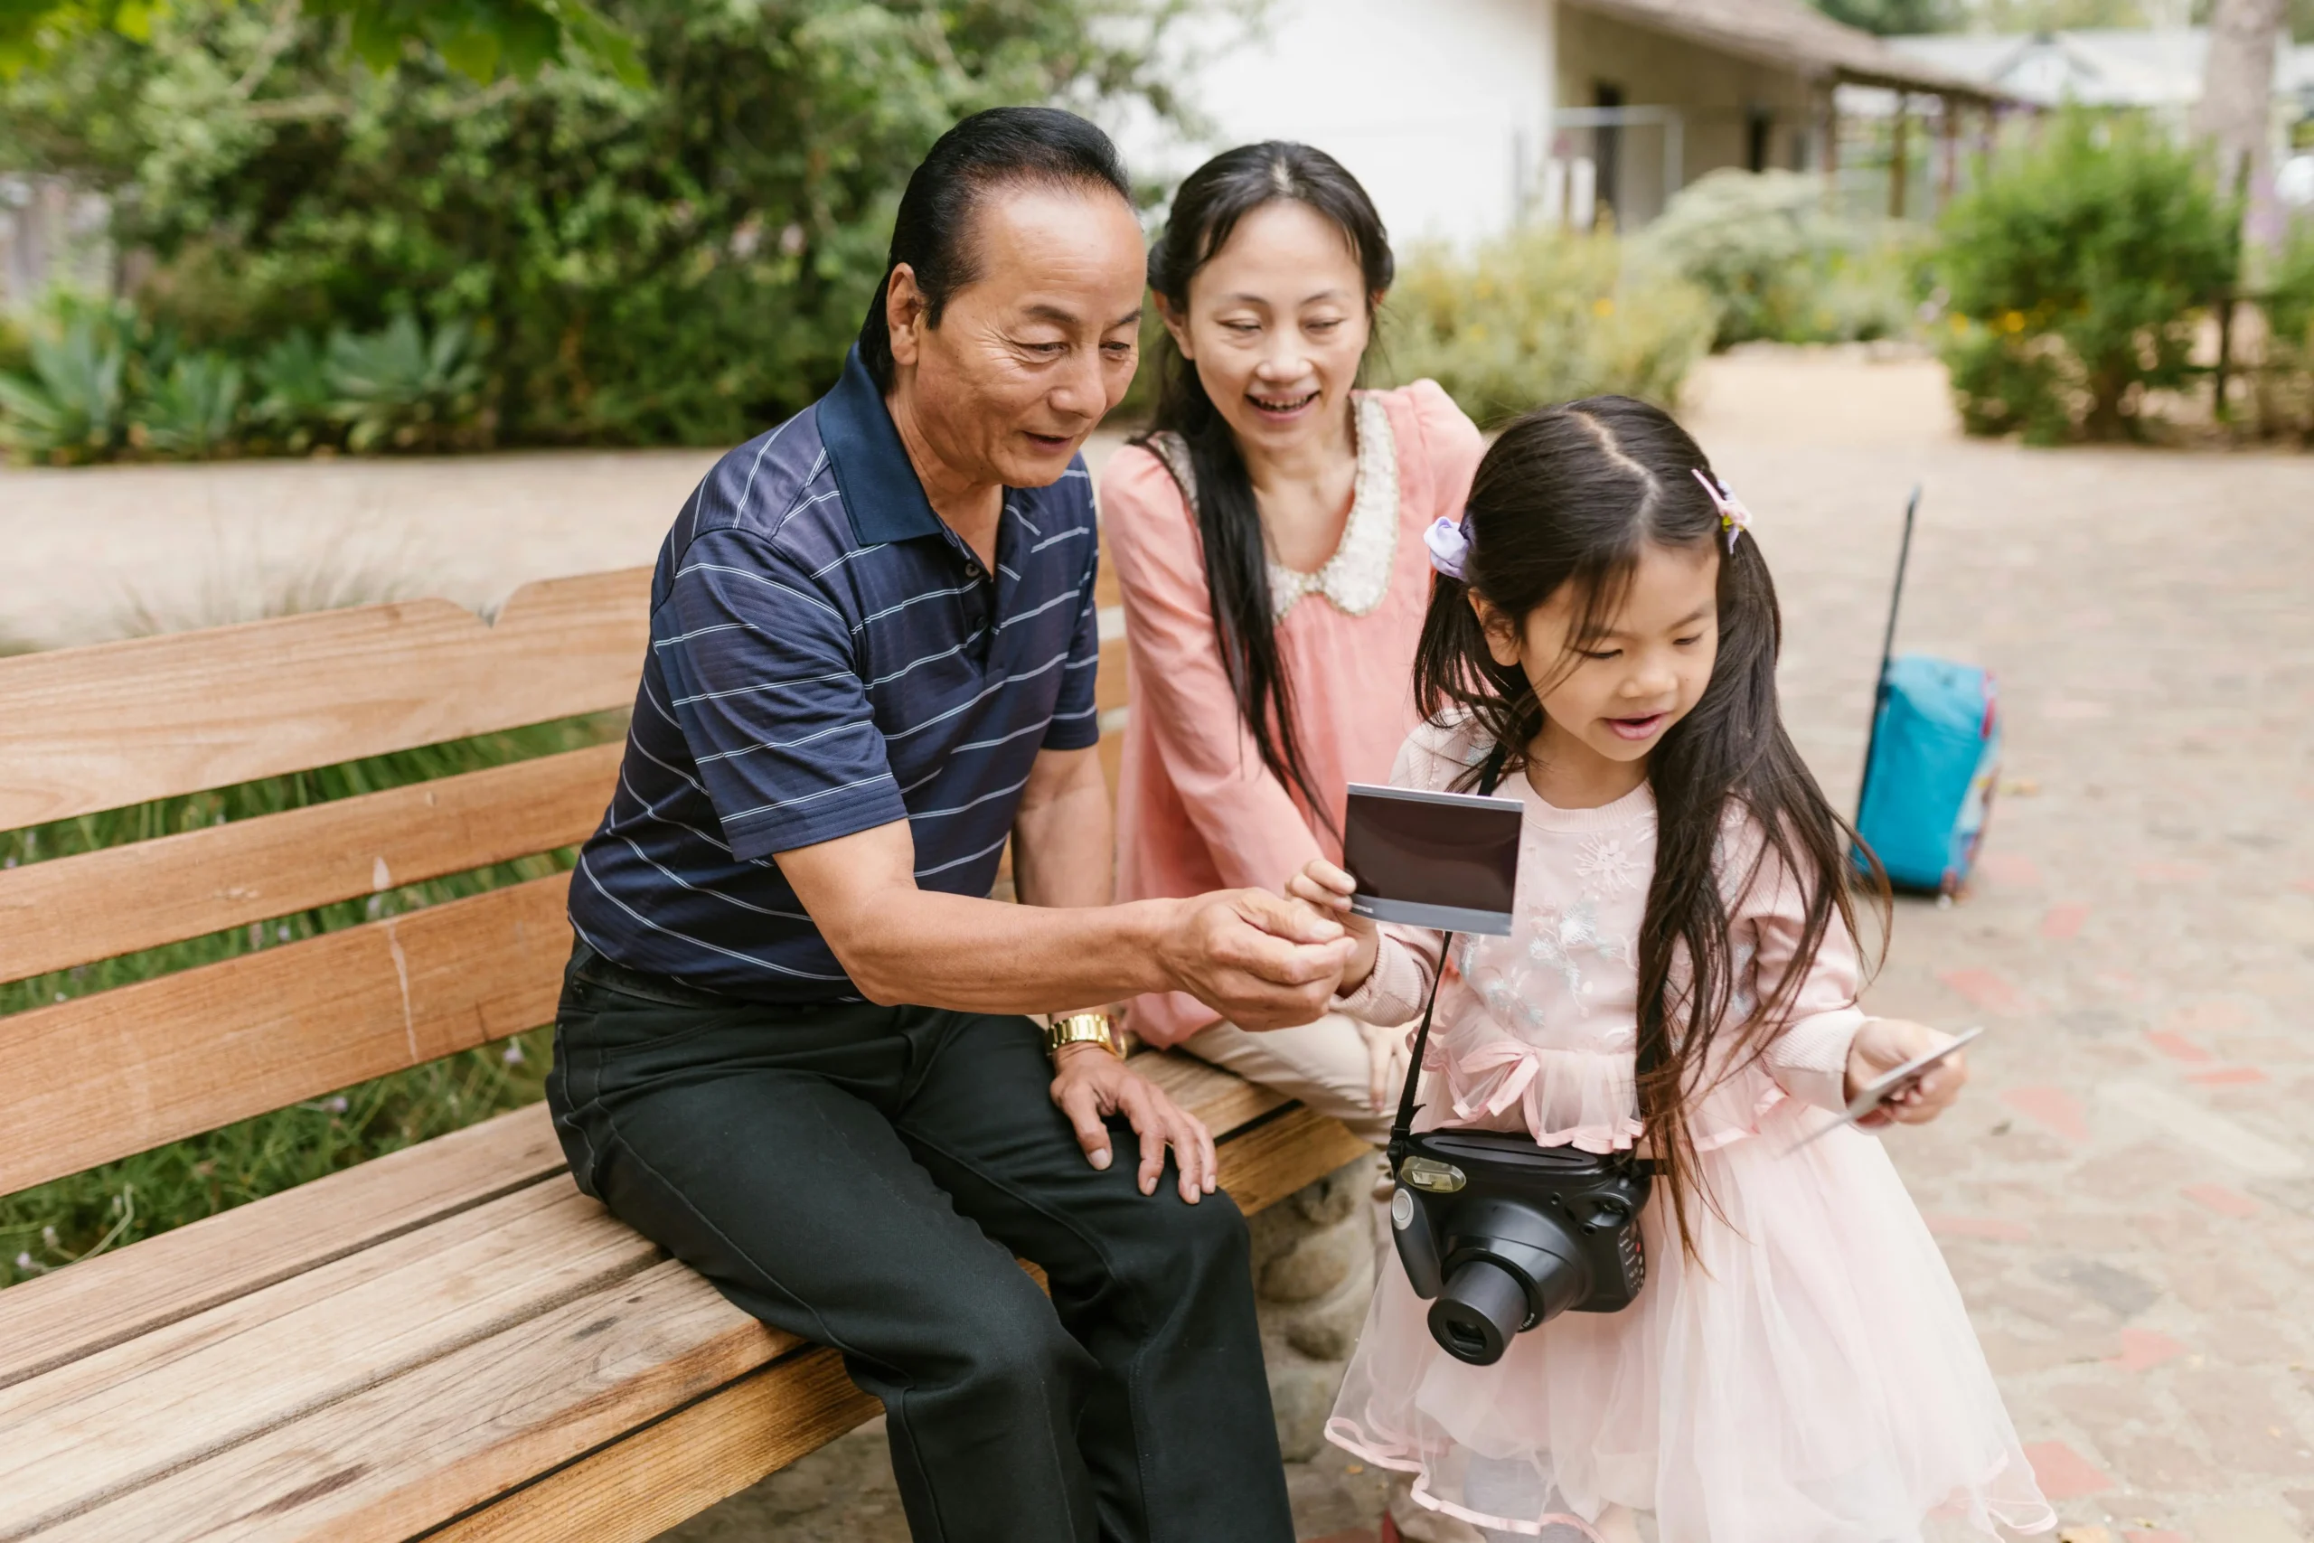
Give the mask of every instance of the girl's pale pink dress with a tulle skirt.
M 1483 759 L 1465 729 L 1423 726 L 1393 782 L 1446 789 Z M 1557 810 L 1525 777 L 1511 937 L 1458 937 L 1425 1055 L 1416 1127 L 1525 1129 L 1546 1145 L 1629 1147 L 1636 935 L 1655 870 L 1645 784 Z M 1731 821 L 1722 874 L 1738 999 L 1775 983 L 1800 932 L 1791 877 Z M 1759 872 L 1754 872 L 1759 868 Z M 1749 874 L 1749 884 L 1745 877 Z M 1423 1006 L 1439 937 L 1386 928 L 1372 976 L 1340 1002 L 1368 1022 Z M 2002 1536 L 2048 1531 L 1967 1309 L 1911 1196 L 1870 1134 L 1793 1140 L 1842 1106 L 1858 960 L 1823 942 L 1761 1062 L 1692 1108 L 1696 1256 L 1643 1215 L 1648 1284 L 1617 1314 L 1562 1314 L 1472 1367 L 1442 1351 L 1428 1302 L 1384 1265 L 1326 1434 L 1414 1474 L 1414 1499 L 1495 1536 L 1599 1538 L 1608 1506 L 1652 1513 L 1661 1543 L 1914 1543 L 1925 1518 Z

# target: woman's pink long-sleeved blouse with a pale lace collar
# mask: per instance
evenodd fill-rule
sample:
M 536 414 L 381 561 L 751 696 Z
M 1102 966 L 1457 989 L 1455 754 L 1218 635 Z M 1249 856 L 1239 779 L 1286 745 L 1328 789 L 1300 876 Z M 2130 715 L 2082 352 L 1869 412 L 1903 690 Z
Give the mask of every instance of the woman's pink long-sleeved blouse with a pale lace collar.
M 1317 574 L 1273 569 L 1275 597 L 1289 606 L 1277 655 L 1294 682 L 1294 731 L 1335 826 L 1344 784 L 1384 782 L 1416 722 L 1414 645 L 1430 606 L 1423 530 L 1462 514 L 1486 449 L 1428 379 L 1358 393 L 1358 412 L 1361 426 L 1386 426 L 1388 444 L 1361 433 L 1361 490 L 1342 548 Z M 1398 488 L 1386 527 L 1370 511 L 1388 497 L 1363 486 L 1375 477 Z M 1101 527 L 1125 590 L 1134 687 L 1118 782 L 1118 900 L 1277 891 L 1314 856 L 1340 861 L 1340 842 L 1261 766 L 1215 643 L 1196 511 L 1152 451 L 1129 446 L 1108 460 Z M 1159 1046 L 1210 1022 L 1213 1009 L 1182 992 L 1132 1006 L 1134 1034 Z

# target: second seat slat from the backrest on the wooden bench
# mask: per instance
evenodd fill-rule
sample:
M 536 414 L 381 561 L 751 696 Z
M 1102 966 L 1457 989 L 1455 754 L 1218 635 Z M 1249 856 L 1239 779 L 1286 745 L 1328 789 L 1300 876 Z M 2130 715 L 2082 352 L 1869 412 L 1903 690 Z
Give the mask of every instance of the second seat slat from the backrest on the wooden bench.
M 567 1177 L 521 1189 L 0 1393 L 0 1492 L 37 1529 L 659 1258 Z

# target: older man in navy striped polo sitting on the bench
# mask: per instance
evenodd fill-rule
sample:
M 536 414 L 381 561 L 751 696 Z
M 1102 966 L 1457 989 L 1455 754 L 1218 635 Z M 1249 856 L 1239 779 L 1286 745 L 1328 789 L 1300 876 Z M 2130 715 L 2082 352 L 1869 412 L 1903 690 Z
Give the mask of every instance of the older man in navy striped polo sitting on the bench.
M 1210 1136 L 1099 1013 L 1023 1016 L 1187 990 L 1305 1022 L 1347 951 L 1257 891 L 1106 905 L 1076 451 L 1138 319 L 1099 130 L 1000 109 L 942 136 L 842 379 L 666 537 L 572 884 L 572 1173 L 845 1353 L 916 1538 L 1294 1536 Z M 1020 907 L 986 898 L 1007 837 Z

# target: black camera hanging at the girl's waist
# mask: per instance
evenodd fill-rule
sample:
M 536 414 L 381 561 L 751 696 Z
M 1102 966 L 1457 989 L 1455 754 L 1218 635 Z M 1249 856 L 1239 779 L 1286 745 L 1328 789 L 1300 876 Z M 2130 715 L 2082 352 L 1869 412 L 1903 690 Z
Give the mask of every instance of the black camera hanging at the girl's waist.
M 1430 1335 L 1493 1365 L 1562 1312 L 1617 1312 L 1648 1279 L 1638 1215 L 1652 1164 L 1543 1147 L 1516 1131 L 1423 1131 L 1391 1143 L 1391 1238 Z

